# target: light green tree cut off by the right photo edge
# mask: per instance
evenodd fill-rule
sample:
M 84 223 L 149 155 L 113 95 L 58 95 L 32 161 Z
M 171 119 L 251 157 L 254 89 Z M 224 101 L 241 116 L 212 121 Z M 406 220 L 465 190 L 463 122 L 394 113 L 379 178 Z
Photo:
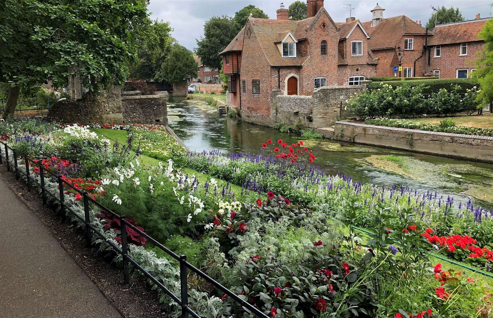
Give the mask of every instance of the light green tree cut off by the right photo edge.
M 478 99 L 481 101 L 493 100 L 493 20 L 488 20 L 483 26 L 483 30 L 478 34 L 478 38 L 485 40 L 485 46 L 479 52 L 476 60 L 477 71 L 473 76 L 477 77 L 481 84 L 481 92 Z

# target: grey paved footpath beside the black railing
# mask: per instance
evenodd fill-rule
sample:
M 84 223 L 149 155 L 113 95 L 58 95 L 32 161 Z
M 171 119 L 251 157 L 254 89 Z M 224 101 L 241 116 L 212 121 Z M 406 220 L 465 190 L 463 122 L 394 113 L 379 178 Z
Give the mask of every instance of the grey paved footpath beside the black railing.
M 121 318 L 0 178 L 0 318 Z

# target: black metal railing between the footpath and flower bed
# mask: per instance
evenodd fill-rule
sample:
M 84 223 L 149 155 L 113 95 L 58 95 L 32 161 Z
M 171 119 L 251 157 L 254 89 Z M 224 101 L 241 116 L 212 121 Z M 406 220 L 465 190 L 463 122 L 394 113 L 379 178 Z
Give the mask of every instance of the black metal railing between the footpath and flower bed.
M 171 297 L 180 307 L 181 307 L 181 318 L 187 318 L 188 315 L 190 314 L 192 317 L 195 318 L 201 318 L 196 312 L 194 312 L 189 306 L 188 306 L 188 282 L 187 282 L 187 275 L 188 275 L 188 270 L 191 272 L 197 274 L 198 276 L 202 277 L 205 281 L 208 283 L 211 283 L 214 287 L 219 289 L 220 291 L 224 292 L 226 295 L 231 297 L 234 301 L 238 302 L 243 309 L 248 312 L 249 314 L 254 314 L 257 317 L 261 318 L 268 318 L 260 309 L 257 307 L 254 307 L 253 305 L 249 304 L 242 298 L 240 298 L 237 294 L 229 290 L 228 288 L 224 287 L 222 284 L 216 282 L 213 280 L 211 277 L 209 277 L 206 273 L 201 271 L 200 269 L 196 268 L 186 260 L 186 255 L 178 255 L 172 250 L 168 249 L 167 247 L 163 246 L 161 243 L 150 237 L 147 233 L 141 231 L 138 229 L 136 226 L 133 224 L 129 223 L 124 215 L 118 215 L 117 213 L 109 210 L 93 198 L 91 198 L 87 192 L 81 191 L 77 189 L 73 184 L 68 182 L 67 180 L 63 179 L 61 175 L 55 174 L 53 171 L 46 169 L 41 161 L 38 160 L 36 163 L 33 159 L 29 158 L 28 156 L 24 156 L 24 164 L 26 166 L 26 171 L 22 171 L 19 169 L 19 163 L 18 163 L 18 158 L 19 156 L 17 155 L 17 150 L 11 148 L 8 146 L 5 142 L 0 142 L 0 146 L 4 147 L 5 150 L 5 164 L 7 166 L 7 171 L 11 171 L 11 169 L 14 169 L 14 174 L 15 178 L 18 180 L 21 175 L 26 177 L 26 182 L 28 185 L 28 191 L 31 191 L 33 188 L 33 182 L 41 189 L 41 198 L 43 204 L 47 203 L 47 196 L 50 196 L 54 199 L 55 202 L 57 202 L 60 205 L 60 213 L 61 213 L 61 219 L 62 221 L 65 221 L 67 219 L 67 211 L 72 213 L 75 217 L 77 217 L 81 222 L 85 224 L 85 240 L 86 240 L 86 245 L 88 247 L 91 247 L 91 239 L 92 239 L 92 233 L 94 232 L 97 234 L 99 237 L 101 237 L 106 244 L 108 244 L 115 252 L 118 254 L 122 255 L 123 257 L 123 281 L 124 283 L 129 283 L 130 281 L 130 268 L 129 264 L 132 264 L 135 268 L 137 268 L 143 276 L 145 276 L 147 279 L 152 281 L 154 284 L 158 286 L 164 293 L 166 293 L 168 296 Z M 8 150 L 12 151 L 13 154 L 13 162 L 12 159 L 9 158 L 8 155 Z M 0 151 L 0 164 L 3 163 L 3 155 L 1 154 Z M 35 177 L 32 177 L 31 172 L 30 172 L 30 165 L 33 165 L 34 167 L 37 166 L 39 167 L 39 182 L 36 180 Z M 45 178 L 46 174 L 51 176 L 53 179 L 56 179 L 58 181 L 58 187 L 59 187 L 59 193 L 52 193 L 50 192 L 46 187 L 45 187 Z M 69 187 L 70 190 L 74 190 L 76 193 L 80 194 L 83 197 L 83 203 L 84 203 L 84 217 L 80 216 L 77 214 L 75 211 L 73 211 L 70 206 L 68 206 L 65 203 L 65 197 L 64 197 L 64 187 Z M 65 187 L 65 188 L 66 188 Z M 108 238 L 105 237 L 103 233 L 98 231 L 96 227 L 94 227 L 91 224 L 91 219 L 90 219 L 90 214 L 89 214 L 89 203 L 92 203 L 96 205 L 99 209 L 101 209 L 104 212 L 107 212 L 111 214 L 113 217 L 118 218 L 120 220 L 120 232 L 121 232 L 121 249 L 114 244 L 113 242 L 109 241 Z M 166 252 L 168 255 L 172 256 L 179 262 L 179 272 L 180 272 L 180 286 L 181 286 L 181 295 L 180 297 L 176 296 L 171 290 L 169 290 L 163 283 L 159 282 L 158 279 L 152 276 L 149 272 L 147 272 L 145 269 L 141 267 L 134 259 L 132 259 L 128 255 L 128 243 L 127 243 L 127 227 L 132 228 L 134 231 L 138 232 L 141 234 L 143 237 L 145 237 L 147 240 L 151 241 L 155 246 L 161 248 L 164 252 Z

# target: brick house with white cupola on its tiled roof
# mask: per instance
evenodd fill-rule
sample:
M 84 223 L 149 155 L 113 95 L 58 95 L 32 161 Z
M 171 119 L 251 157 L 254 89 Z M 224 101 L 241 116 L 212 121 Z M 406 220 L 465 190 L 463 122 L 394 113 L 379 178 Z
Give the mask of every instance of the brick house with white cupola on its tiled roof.
M 377 76 L 399 77 L 399 72 L 393 71 L 395 66 L 402 66 L 400 77 L 423 76 L 426 29 L 421 21 L 405 15 L 384 18 L 384 11 L 377 3 L 371 10 L 372 20 L 362 23 L 370 35 L 369 48 L 379 60 Z

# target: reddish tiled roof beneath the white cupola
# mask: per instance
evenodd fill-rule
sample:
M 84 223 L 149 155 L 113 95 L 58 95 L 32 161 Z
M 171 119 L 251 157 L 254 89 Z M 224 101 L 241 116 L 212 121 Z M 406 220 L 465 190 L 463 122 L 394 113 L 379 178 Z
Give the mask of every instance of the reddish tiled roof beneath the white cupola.
M 368 45 L 371 50 L 395 47 L 405 34 L 424 35 L 426 33 L 426 29 L 405 15 L 382 19 L 375 27 L 371 26 L 371 21 L 363 22 L 362 25 L 370 35 Z M 428 32 L 428 34 L 431 33 Z

